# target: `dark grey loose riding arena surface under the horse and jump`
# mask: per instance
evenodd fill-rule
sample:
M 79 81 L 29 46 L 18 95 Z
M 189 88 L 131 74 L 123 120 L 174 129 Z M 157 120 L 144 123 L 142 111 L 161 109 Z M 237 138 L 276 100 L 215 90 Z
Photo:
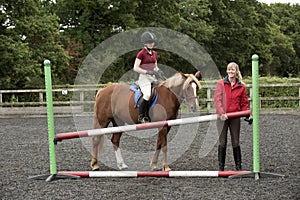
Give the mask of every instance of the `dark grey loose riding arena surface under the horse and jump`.
M 55 118 L 55 132 L 76 131 L 78 121 L 92 124 L 90 116 Z M 284 178 L 85 178 L 52 182 L 28 179 L 49 173 L 46 117 L 0 118 L 0 197 L 1 199 L 300 199 L 300 115 L 263 114 L 260 116 L 260 169 L 285 175 Z M 172 128 L 173 129 L 173 128 Z M 176 130 L 176 128 L 174 128 Z M 199 144 L 208 123 L 201 123 L 192 143 L 170 166 L 173 170 L 217 170 L 217 145 L 199 158 Z M 177 129 L 178 130 L 178 129 Z M 155 136 L 152 136 L 155 138 Z M 172 131 L 169 134 L 170 140 Z M 133 138 L 133 139 L 132 139 Z M 142 141 L 142 142 L 141 142 Z M 154 148 L 155 140 L 135 143 L 124 134 L 124 149 Z M 141 145 L 141 146 L 139 146 Z M 150 147 L 149 147 L 150 148 Z M 171 148 L 171 147 L 170 147 Z M 253 169 L 251 126 L 242 122 L 243 169 Z M 233 170 L 230 140 L 226 169 Z M 108 148 L 109 151 L 109 148 Z M 110 149 L 112 152 L 112 149 Z M 88 171 L 90 152 L 80 139 L 63 141 L 56 148 L 59 171 Z M 137 163 L 124 156 L 127 164 Z M 115 158 L 112 158 L 112 162 Z M 149 157 L 150 163 L 150 157 Z M 101 170 L 115 170 L 101 164 Z M 147 164 L 148 165 L 148 164 Z M 129 166 L 135 170 L 136 166 Z M 141 170 L 145 170 L 144 168 Z

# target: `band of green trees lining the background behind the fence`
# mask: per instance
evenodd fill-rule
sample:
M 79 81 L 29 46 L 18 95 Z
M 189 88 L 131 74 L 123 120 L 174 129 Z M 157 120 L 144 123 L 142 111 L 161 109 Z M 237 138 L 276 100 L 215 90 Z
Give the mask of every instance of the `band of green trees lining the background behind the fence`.
M 42 88 L 42 63 L 51 61 L 54 84 L 73 84 L 85 57 L 107 38 L 134 28 L 165 27 L 193 38 L 222 75 L 228 62 L 251 76 L 300 77 L 300 4 L 257 0 L 0 0 L 0 89 Z M 186 47 L 187 51 L 191 51 Z M 136 52 L 117 58 L 102 81 L 115 82 L 133 67 Z M 158 62 L 185 73 L 187 58 L 158 50 Z M 107 55 L 109 56 L 109 55 Z

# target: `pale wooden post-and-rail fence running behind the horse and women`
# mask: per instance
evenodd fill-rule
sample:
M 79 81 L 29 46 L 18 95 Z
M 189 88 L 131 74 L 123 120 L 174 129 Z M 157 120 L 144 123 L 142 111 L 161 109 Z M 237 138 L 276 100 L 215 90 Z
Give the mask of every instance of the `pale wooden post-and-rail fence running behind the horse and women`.
M 249 90 L 249 101 L 252 102 L 252 85 L 246 84 Z M 260 109 L 272 109 L 262 107 L 263 102 L 270 101 L 294 101 L 297 105 L 293 108 L 285 107 L 285 109 L 300 109 L 300 83 L 285 83 L 285 84 L 260 84 L 260 90 L 265 87 L 279 88 L 279 87 L 295 87 L 298 88 L 297 96 L 263 96 L 260 95 Z M 215 85 L 205 85 L 203 89 L 206 90 L 206 97 L 200 95 L 200 104 L 204 104 L 202 111 L 207 113 L 215 112 L 213 103 L 213 94 Z M 53 89 L 53 105 L 55 114 L 85 114 L 91 113 L 94 96 L 97 92 L 97 87 L 82 87 L 82 88 L 59 88 Z M 21 90 L 0 90 L 0 116 L 10 115 L 46 115 L 46 101 L 45 89 L 21 89 Z M 22 102 L 18 96 L 22 94 L 37 95 L 38 99 L 35 102 Z M 10 98 L 5 98 L 8 95 Z M 73 95 L 73 96 L 72 96 Z M 295 104 L 295 103 L 294 103 Z M 281 109 L 273 108 L 273 109 Z

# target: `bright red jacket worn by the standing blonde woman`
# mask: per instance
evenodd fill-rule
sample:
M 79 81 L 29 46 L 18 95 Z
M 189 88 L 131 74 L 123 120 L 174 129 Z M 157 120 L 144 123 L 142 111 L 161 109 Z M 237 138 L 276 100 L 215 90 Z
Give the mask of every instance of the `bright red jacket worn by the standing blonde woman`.
M 214 103 L 217 114 L 250 110 L 245 85 L 237 79 L 231 87 L 227 76 L 216 85 Z

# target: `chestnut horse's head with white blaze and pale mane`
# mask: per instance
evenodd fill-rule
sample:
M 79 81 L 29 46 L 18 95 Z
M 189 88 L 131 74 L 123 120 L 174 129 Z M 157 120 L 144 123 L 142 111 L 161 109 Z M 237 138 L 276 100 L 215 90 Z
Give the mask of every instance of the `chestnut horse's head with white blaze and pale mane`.
M 199 107 L 198 90 L 201 89 L 201 84 L 198 81 L 199 77 L 199 71 L 195 74 L 176 73 L 164 81 L 163 85 L 177 96 L 180 103 L 185 100 L 190 111 L 195 112 Z

